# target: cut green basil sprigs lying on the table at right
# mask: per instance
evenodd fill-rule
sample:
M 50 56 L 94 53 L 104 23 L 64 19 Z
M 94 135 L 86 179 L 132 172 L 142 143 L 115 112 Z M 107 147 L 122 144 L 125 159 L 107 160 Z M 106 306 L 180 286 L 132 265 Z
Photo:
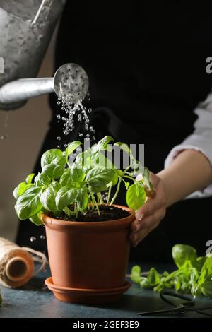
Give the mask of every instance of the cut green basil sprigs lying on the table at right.
M 193 247 L 175 244 L 172 258 L 177 266 L 176 271 L 160 274 L 151 268 L 143 276 L 141 267 L 136 265 L 131 269 L 131 280 L 142 288 L 153 288 L 157 292 L 174 288 L 178 292 L 191 293 L 194 297 L 212 297 L 212 254 L 198 257 Z

